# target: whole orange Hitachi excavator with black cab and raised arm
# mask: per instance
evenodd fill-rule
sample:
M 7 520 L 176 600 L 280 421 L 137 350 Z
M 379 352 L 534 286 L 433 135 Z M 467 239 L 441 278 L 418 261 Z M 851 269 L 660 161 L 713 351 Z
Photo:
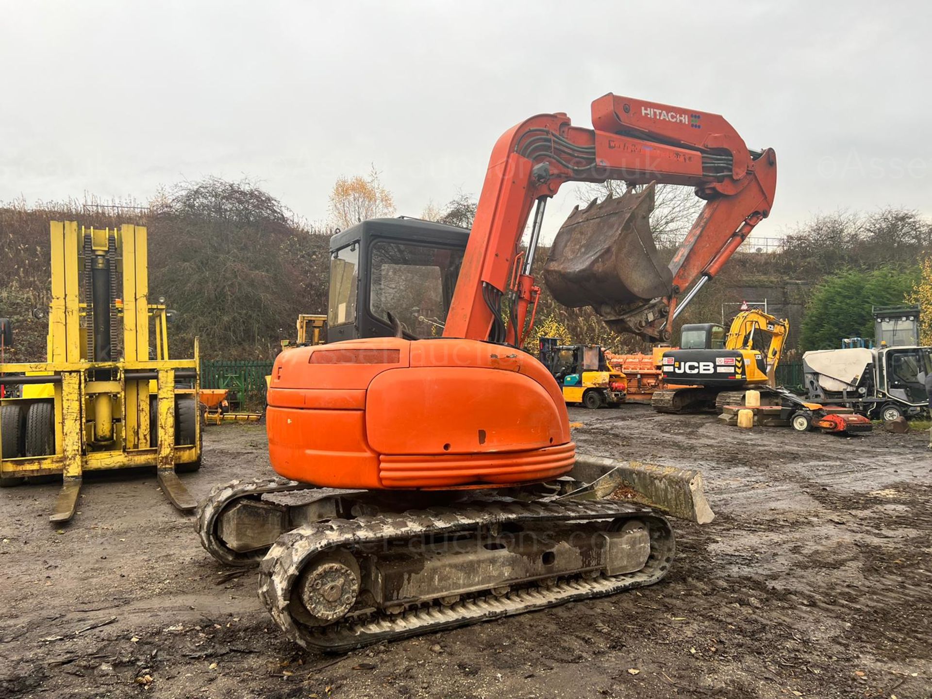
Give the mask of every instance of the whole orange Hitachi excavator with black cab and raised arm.
M 295 642 L 346 651 L 610 595 L 669 569 L 664 516 L 600 499 L 596 484 L 561 490 L 574 463 L 600 461 L 576 453 L 559 386 L 520 349 L 544 208 L 567 182 L 646 185 L 573 212 L 544 278 L 561 303 L 665 338 L 678 295 L 769 214 L 775 156 L 749 151 L 718 115 L 660 103 L 607 94 L 592 120 L 542 114 L 500 137 L 465 250 L 462 229 L 404 218 L 331 241 L 327 344 L 281 352 L 268 389 L 269 458 L 283 478 L 216 487 L 198 518 L 218 560 L 259 563 L 259 596 Z M 707 202 L 670 267 L 647 225 L 654 182 L 692 185 Z M 662 471 L 641 472 L 636 489 L 676 485 Z

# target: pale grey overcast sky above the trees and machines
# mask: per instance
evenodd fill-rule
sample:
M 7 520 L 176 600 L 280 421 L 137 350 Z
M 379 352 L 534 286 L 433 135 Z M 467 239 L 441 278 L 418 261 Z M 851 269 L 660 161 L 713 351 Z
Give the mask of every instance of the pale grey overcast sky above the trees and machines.
M 258 181 L 311 221 L 370 163 L 398 213 L 478 195 L 503 130 L 606 93 L 772 146 L 774 236 L 817 212 L 932 213 L 927 2 L 0 0 L 0 199 Z M 548 209 L 555 231 L 577 195 Z

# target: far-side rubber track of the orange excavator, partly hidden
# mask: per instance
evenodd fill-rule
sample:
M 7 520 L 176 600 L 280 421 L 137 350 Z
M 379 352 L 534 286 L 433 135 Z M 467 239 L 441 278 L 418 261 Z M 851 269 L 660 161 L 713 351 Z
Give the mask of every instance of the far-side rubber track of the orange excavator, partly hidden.
M 217 517 L 224 511 L 226 505 L 233 500 L 251 497 L 258 499 L 264 493 L 303 490 L 310 487 L 312 486 L 289 481 L 286 478 L 259 478 L 254 481 L 236 480 L 222 486 L 214 486 L 211 494 L 198 503 L 198 517 L 195 526 L 198 528 L 201 546 L 207 550 L 207 553 L 226 566 L 248 567 L 258 565 L 259 561 L 266 555 L 266 551 L 251 551 L 240 554 L 227 548 L 226 544 L 220 541 L 217 536 Z

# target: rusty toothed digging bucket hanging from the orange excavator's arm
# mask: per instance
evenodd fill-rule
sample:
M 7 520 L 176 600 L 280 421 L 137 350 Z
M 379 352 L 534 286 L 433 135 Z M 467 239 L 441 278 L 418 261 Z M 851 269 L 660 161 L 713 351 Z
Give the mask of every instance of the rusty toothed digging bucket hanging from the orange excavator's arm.
M 556 233 L 543 280 L 557 302 L 591 306 L 612 329 L 637 332 L 625 310 L 670 295 L 673 273 L 651 235 L 654 183 L 579 207 Z

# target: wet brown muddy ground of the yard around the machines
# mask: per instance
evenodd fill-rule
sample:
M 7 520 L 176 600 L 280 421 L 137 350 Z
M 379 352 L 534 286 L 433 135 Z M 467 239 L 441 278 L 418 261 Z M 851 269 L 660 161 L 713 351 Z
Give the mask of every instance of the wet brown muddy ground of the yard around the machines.
M 152 475 L 0 491 L 0 697 L 932 697 L 924 434 L 738 431 L 571 411 L 581 450 L 699 466 L 718 517 L 637 593 L 326 656 L 282 639 L 255 575 L 201 548 Z M 262 426 L 209 428 L 213 484 L 269 473 Z M 103 624 L 103 625 L 97 625 Z

